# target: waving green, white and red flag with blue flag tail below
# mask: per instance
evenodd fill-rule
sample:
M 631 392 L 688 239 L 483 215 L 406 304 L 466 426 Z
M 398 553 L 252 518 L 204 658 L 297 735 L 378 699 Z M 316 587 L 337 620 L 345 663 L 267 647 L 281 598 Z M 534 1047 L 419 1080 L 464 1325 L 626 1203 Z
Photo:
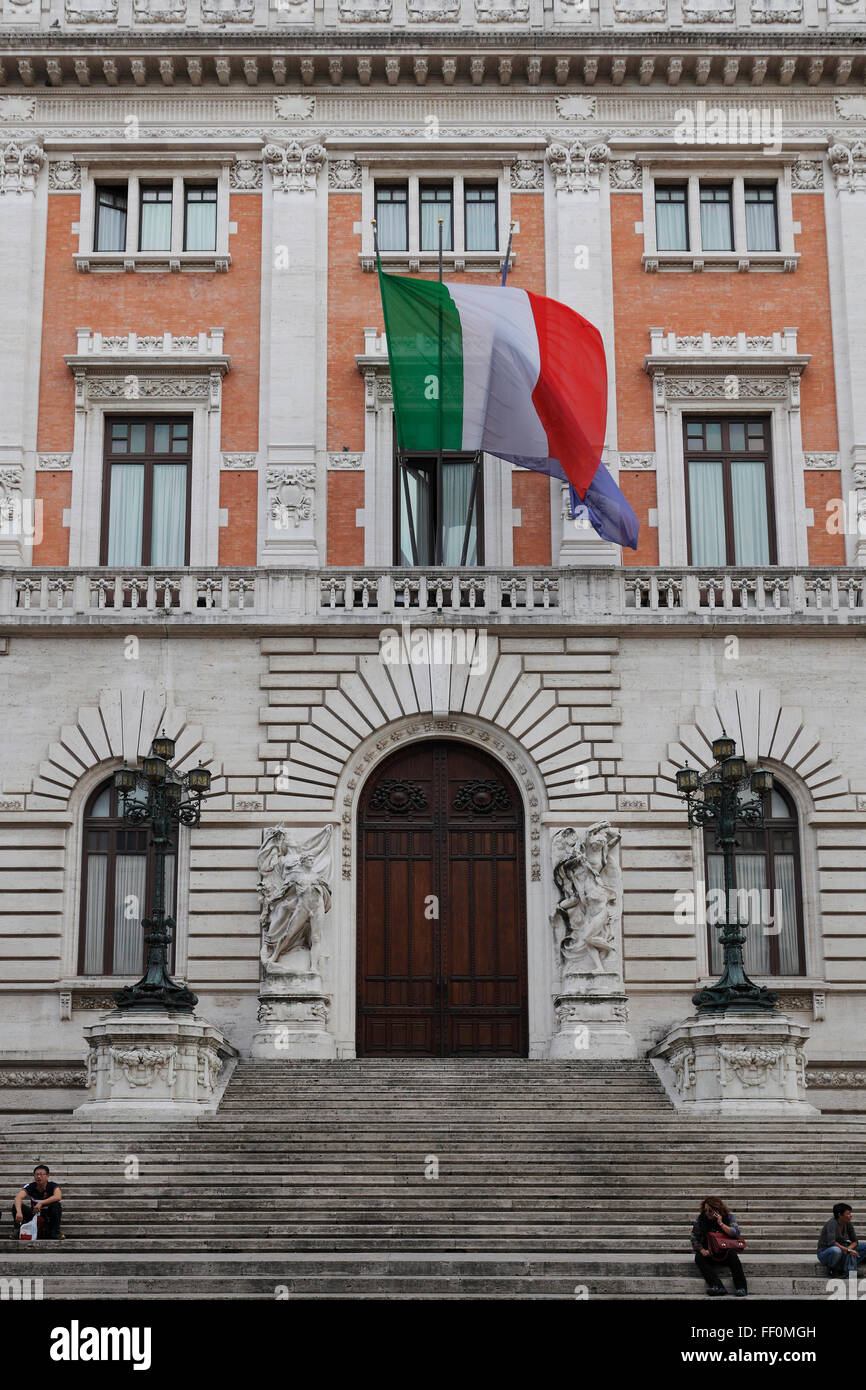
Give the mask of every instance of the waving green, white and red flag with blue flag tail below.
M 484 449 L 563 478 L 599 535 L 635 548 L 637 517 L 601 461 L 598 328 L 527 289 L 381 271 L 379 285 L 399 449 Z

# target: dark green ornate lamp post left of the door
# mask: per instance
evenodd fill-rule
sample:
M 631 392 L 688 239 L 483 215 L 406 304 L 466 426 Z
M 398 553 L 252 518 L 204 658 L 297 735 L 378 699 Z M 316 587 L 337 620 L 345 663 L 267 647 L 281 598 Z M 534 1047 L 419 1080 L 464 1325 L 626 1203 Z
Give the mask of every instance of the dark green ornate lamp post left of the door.
M 153 739 L 140 769 L 124 766 L 114 774 L 121 816 L 128 826 L 150 826 L 156 860 L 153 912 L 150 917 L 142 917 L 147 965 L 138 984 L 126 986 L 114 995 L 121 1009 L 192 1013 L 199 1002 L 192 990 L 168 976 L 168 945 L 175 920 L 165 916 L 165 853 L 172 826 L 199 824 L 202 798 L 210 790 L 210 773 L 200 763 L 189 773 L 177 773 L 171 767 L 174 755 L 174 738 L 161 734 Z

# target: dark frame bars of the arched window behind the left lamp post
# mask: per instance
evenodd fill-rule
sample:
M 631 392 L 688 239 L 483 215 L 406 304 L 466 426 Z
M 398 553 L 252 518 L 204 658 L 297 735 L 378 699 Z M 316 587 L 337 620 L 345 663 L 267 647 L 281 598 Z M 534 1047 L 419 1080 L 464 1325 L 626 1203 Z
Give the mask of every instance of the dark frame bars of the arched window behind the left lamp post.
M 101 796 L 101 794 L 104 791 L 108 791 L 108 795 L 111 798 L 111 801 L 110 801 L 110 815 L 108 816 L 95 817 L 92 815 L 92 808 L 99 801 L 99 798 Z M 113 778 L 108 778 L 107 781 L 101 781 L 101 783 L 99 783 L 97 787 L 93 788 L 93 791 L 90 792 L 90 795 L 85 801 L 81 826 L 82 826 L 81 859 L 79 859 L 79 863 L 81 863 L 81 894 L 79 894 L 79 906 L 78 906 L 78 912 L 79 912 L 79 917 L 78 917 L 78 920 L 79 920 L 79 931 L 78 931 L 76 973 L 78 973 L 79 977 L 83 977 L 83 979 L 88 979 L 88 980 L 89 979 L 125 980 L 125 979 L 129 979 L 129 976 L 126 976 L 126 974 L 115 974 L 114 970 L 111 969 L 111 965 L 113 965 L 113 960 L 114 960 L 114 888 L 115 888 L 115 872 L 114 872 L 114 866 L 117 863 L 118 853 L 126 853 L 126 852 L 129 852 L 126 849 L 118 849 L 118 844 L 117 844 L 117 835 L 118 835 L 118 833 L 120 831 L 125 831 L 125 833 L 132 831 L 132 833 L 135 833 L 135 827 L 126 826 L 122 821 L 121 816 L 120 816 L 120 812 L 118 812 L 118 792 L 114 788 L 114 780 Z M 99 830 L 99 828 L 103 828 L 103 830 L 106 830 L 108 833 L 108 849 L 107 849 L 108 866 L 107 866 L 107 873 L 106 873 L 103 960 L 101 960 L 101 969 L 100 970 L 96 970 L 96 972 L 90 970 L 90 972 L 85 973 L 85 960 L 86 960 L 86 951 L 88 951 L 88 937 L 86 937 L 86 929 L 88 929 L 88 881 L 89 881 L 88 860 L 89 860 L 89 858 L 90 858 L 92 853 L 99 853 L 100 852 L 100 851 L 90 851 L 88 848 L 88 834 L 89 834 L 89 831 Z M 154 849 L 153 849 L 153 844 L 150 842 L 150 830 L 149 830 L 149 827 L 145 826 L 138 833 L 140 835 L 146 837 L 146 848 L 145 848 L 143 853 L 140 855 L 140 858 L 146 859 L 146 867 L 145 867 L 145 901 L 142 903 L 142 920 L 143 920 L 153 910 L 153 890 L 154 890 L 154 883 L 156 883 L 156 853 L 154 853 Z M 174 844 L 172 844 L 174 863 L 175 863 L 174 885 L 172 885 L 174 891 L 172 891 L 171 901 L 165 903 L 165 916 L 174 917 L 175 923 L 177 923 L 177 903 L 178 903 L 179 838 L 181 838 L 179 837 L 179 830 L 175 830 L 175 833 L 174 833 Z M 170 947 L 168 947 L 168 963 L 167 963 L 167 969 L 168 969 L 170 973 L 175 967 L 175 965 L 174 965 L 174 960 L 175 960 L 175 947 L 177 947 L 177 930 L 172 933 L 172 940 L 171 940 Z M 142 963 L 140 963 L 140 967 L 136 972 L 136 974 L 139 974 L 139 973 L 143 972 L 145 962 L 146 962 L 146 955 L 145 955 L 145 941 L 143 941 L 143 933 L 142 933 Z

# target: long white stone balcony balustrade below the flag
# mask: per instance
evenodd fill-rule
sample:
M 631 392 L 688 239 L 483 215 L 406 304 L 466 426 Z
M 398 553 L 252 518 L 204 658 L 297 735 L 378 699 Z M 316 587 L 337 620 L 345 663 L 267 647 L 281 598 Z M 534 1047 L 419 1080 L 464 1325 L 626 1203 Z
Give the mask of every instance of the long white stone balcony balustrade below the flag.
M 866 571 L 0 570 L 0 627 L 268 628 L 457 619 L 537 628 L 866 623 Z

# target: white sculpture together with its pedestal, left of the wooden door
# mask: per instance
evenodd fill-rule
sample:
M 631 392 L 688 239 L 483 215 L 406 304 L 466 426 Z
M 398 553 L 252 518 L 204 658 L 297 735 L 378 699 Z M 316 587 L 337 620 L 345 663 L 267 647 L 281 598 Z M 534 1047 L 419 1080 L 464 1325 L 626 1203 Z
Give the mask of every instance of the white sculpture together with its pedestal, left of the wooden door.
M 257 856 L 261 881 L 261 988 L 256 1058 L 332 1056 L 328 998 L 320 966 L 324 917 L 331 909 L 331 826 L 303 841 L 285 826 L 265 830 Z

